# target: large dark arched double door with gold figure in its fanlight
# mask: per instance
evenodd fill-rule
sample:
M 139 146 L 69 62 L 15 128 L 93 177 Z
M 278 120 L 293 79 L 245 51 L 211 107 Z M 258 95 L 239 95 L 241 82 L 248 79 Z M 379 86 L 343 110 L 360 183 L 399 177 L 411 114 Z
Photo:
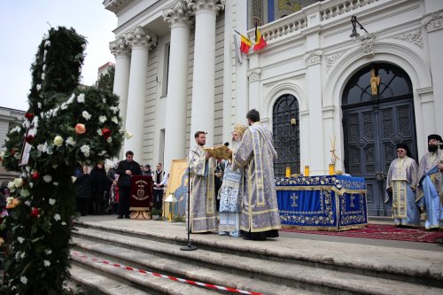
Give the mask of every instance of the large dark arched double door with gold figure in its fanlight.
M 380 77 L 377 94 L 370 86 L 371 70 Z M 416 120 L 412 83 L 400 67 L 375 64 L 362 68 L 346 84 L 342 99 L 346 173 L 367 183 L 368 213 L 388 216 L 385 179 L 395 145 L 408 144 L 417 159 Z

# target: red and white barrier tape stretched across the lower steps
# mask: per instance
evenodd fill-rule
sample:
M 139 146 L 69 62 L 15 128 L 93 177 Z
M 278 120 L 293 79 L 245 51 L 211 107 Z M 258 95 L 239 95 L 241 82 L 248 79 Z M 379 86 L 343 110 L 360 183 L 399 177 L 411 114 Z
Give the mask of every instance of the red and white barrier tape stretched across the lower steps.
M 165 275 L 161 275 L 158 273 L 152 273 L 151 271 L 146 271 L 143 269 L 137 269 L 137 268 L 131 268 L 131 267 L 125 267 L 123 265 L 120 265 L 118 263 L 113 263 L 110 261 L 106 261 L 106 260 L 99 260 L 97 258 L 94 257 L 89 257 L 87 255 L 81 254 L 79 252 L 71 252 L 72 255 L 81 257 L 82 259 L 86 259 L 86 260 L 92 260 L 98 263 L 103 263 L 103 264 L 107 264 L 116 268 L 123 268 L 129 271 L 134 271 L 136 273 L 140 273 L 140 274 L 144 274 L 144 275 L 151 275 L 151 276 L 159 276 L 159 277 L 163 277 L 163 278 L 167 278 L 169 280 L 175 281 L 175 282 L 180 282 L 180 283 L 189 283 L 189 284 L 193 284 L 193 285 L 197 285 L 200 287 L 206 287 L 209 289 L 215 289 L 215 290 L 220 290 L 220 291 L 229 291 L 232 293 L 240 293 L 240 294 L 246 294 L 246 295 L 263 295 L 262 293 L 258 293 L 258 292 L 251 292 L 251 291 L 245 291 L 245 290 L 239 290 L 239 289 L 235 289 L 235 288 L 229 288 L 229 287 L 223 287 L 223 286 L 218 286 L 215 284 L 211 284 L 211 283 L 201 283 L 201 282 L 195 282 L 195 281 L 190 281 L 190 280 L 186 280 L 180 277 L 175 277 L 175 276 L 165 276 Z

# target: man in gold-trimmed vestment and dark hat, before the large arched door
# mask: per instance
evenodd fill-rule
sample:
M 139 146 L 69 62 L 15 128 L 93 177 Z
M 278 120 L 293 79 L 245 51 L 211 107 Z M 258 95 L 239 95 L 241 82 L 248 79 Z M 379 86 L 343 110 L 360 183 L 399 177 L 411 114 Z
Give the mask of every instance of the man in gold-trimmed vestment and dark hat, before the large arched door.
M 385 198 L 387 203 L 392 197 L 392 217 L 396 226 L 420 226 L 420 212 L 416 206 L 417 171 L 408 145 L 397 144 L 397 159 L 389 167 Z

